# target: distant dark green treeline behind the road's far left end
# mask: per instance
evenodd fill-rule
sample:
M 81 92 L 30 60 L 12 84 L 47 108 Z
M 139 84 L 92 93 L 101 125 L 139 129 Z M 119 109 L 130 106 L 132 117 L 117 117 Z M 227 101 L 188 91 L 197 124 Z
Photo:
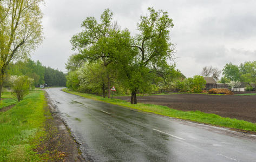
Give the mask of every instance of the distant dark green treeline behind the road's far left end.
M 34 79 L 35 87 L 40 86 L 40 84 L 47 84 L 47 86 L 66 85 L 65 74 L 62 71 L 43 66 L 39 60 L 34 62 L 31 59 L 27 59 L 25 62 L 10 63 L 6 70 L 5 80 L 8 81 L 9 76 L 15 75 L 28 76 Z

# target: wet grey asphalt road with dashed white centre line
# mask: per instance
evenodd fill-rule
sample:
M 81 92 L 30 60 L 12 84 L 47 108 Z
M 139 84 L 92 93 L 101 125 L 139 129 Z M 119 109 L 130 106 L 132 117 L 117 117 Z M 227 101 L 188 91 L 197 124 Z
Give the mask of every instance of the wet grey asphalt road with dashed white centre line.
M 256 161 L 256 140 L 46 91 L 87 161 Z

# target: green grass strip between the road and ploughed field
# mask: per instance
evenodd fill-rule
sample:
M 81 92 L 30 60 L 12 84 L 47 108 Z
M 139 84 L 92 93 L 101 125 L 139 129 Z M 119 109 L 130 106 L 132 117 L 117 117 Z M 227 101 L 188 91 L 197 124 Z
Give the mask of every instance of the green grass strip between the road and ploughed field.
M 256 132 L 256 124 L 254 124 L 254 123 L 246 122 L 244 120 L 224 118 L 224 117 L 220 117 L 216 114 L 208 114 L 208 113 L 203 113 L 200 111 L 184 112 L 184 111 L 179 111 L 179 110 L 175 110 L 175 109 L 170 109 L 167 106 L 143 104 L 143 103 L 138 103 L 136 105 L 132 105 L 132 104 L 125 102 L 123 100 L 120 100 L 120 99 L 114 99 L 114 98 L 108 99 L 108 98 L 103 98 L 103 97 L 90 95 L 90 94 L 86 94 L 86 93 L 78 93 L 78 92 L 69 91 L 69 90 L 63 90 L 63 91 L 72 93 L 74 95 L 110 103 L 110 104 L 116 104 L 116 105 L 120 105 L 120 106 L 129 107 L 131 109 L 160 114 L 162 116 L 168 116 L 168 117 L 173 117 L 173 118 L 191 120 L 193 122 L 199 122 L 199 123 L 211 124 L 211 125 L 216 125 L 216 126 L 229 127 L 229 128 L 233 128 L 233 129 Z

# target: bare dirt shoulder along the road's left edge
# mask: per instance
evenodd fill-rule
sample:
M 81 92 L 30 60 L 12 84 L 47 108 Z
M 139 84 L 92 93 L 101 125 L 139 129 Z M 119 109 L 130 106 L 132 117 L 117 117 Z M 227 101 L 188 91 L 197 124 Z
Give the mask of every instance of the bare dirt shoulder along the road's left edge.
M 38 154 L 49 153 L 48 161 L 85 161 L 78 149 L 79 145 L 71 136 L 63 120 L 57 115 L 54 107 L 48 103 L 45 111 L 50 111 L 52 118 L 45 121 L 44 129 L 47 132 L 47 137 L 42 139 L 42 143 L 35 151 Z

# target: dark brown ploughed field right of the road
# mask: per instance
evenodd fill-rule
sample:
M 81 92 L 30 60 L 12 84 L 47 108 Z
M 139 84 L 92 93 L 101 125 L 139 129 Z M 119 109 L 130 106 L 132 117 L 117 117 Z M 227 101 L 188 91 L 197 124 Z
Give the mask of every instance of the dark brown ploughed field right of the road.
M 256 93 L 254 92 L 234 92 Z M 130 97 L 116 97 L 130 102 Z M 256 96 L 176 94 L 161 96 L 137 96 L 138 103 L 167 106 L 181 111 L 201 111 L 214 113 L 221 117 L 235 118 L 256 123 Z

